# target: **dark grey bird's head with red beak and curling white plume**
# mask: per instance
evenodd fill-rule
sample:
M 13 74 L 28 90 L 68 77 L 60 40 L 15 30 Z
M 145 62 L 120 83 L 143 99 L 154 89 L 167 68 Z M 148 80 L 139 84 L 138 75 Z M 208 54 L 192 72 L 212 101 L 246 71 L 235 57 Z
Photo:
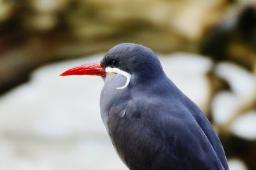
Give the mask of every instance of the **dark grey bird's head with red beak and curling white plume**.
M 127 78 L 126 87 L 132 76 L 144 81 L 163 74 L 157 56 L 149 48 L 134 43 L 122 43 L 111 48 L 100 62 L 83 64 L 68 69 L 60 76 L 122 74 Z M 123 89 L 124 87 L 120 88 Z

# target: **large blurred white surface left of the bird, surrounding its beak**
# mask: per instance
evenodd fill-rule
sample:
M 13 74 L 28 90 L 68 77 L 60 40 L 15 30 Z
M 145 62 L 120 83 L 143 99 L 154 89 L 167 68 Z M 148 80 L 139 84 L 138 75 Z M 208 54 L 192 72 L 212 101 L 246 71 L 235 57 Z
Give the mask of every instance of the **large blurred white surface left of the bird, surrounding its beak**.
M 101 57 L 42 67 L 0 98 L 0 169 L 127 169 L 100 118 L 102 79 L 58 76 Z

